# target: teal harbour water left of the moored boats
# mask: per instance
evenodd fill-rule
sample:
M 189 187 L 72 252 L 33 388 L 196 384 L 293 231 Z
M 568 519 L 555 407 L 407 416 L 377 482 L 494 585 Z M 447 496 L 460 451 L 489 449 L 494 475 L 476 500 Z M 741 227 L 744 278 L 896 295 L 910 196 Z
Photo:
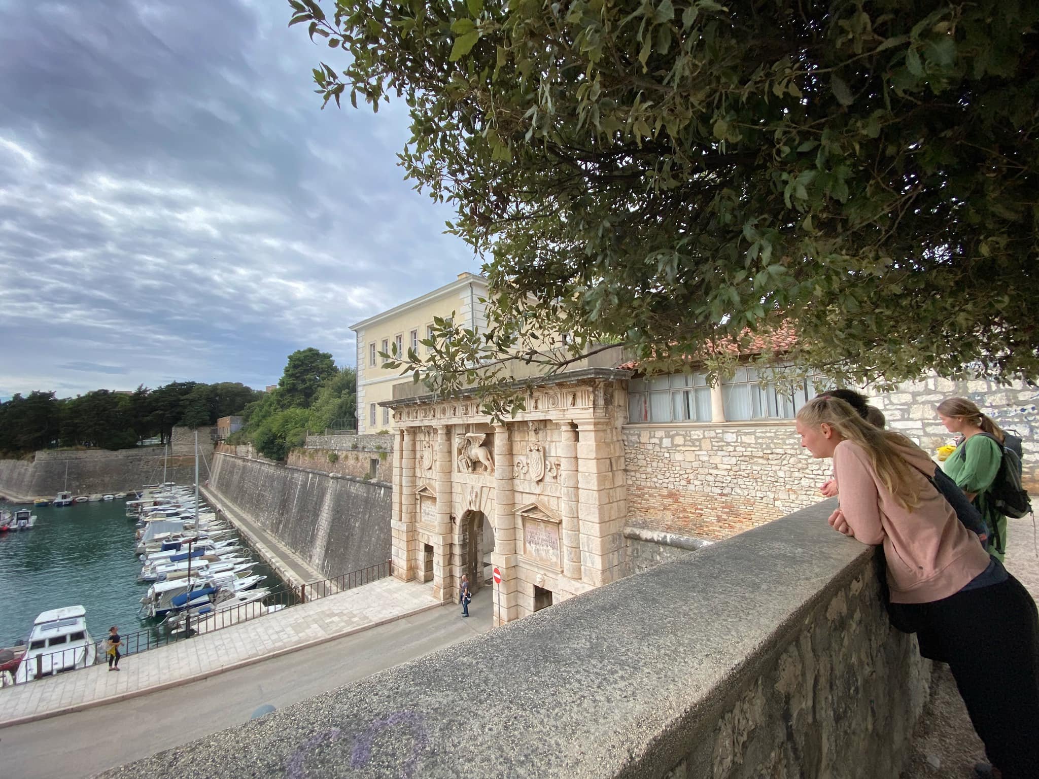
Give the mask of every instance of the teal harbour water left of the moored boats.
M 21 643 L 41 612 L 65 606 L 86 609 L 95 640 L 112 625 L 125 637 L 143 629 L 155 639 L 165 635 L 137 616 L 149 583 L 137 582 L 141 562 L 124 501 L 36 507 L 32 513 L 37 517 L 32 530 L 0 533 L 0 647 Z M 267 576 L 261 587 L 283 588 L 266 565 L 251 567 Z

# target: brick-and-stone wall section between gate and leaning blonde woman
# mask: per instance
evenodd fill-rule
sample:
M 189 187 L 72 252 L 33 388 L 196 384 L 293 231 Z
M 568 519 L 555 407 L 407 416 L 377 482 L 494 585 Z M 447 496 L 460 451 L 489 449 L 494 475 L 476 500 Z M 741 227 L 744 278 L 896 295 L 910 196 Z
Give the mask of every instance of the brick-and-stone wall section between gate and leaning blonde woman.
M 719 540 L 822 500 L 792 421 L 623 428 L 631 527 Z

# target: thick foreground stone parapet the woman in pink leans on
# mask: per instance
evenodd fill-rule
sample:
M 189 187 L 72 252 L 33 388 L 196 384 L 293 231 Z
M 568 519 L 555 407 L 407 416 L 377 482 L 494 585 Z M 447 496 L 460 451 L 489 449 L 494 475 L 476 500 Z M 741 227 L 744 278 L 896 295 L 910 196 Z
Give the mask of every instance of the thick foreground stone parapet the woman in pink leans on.
M 831 508 L 102 776 L 897 777 L 930 668 Z

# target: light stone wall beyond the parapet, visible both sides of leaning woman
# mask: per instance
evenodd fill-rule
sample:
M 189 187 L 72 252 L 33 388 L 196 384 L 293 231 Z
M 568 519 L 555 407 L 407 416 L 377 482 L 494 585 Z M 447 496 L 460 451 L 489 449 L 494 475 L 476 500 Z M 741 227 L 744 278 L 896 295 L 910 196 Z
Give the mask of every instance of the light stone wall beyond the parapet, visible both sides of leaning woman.
M 938 403 L 969 398 L 1023 437 L 1024 486 L 1039 491 L 1039 390 L 932 377 L 890 393 L 863 392 L 888 429 L 931 453 L 953 441 Z M 627 523 L 696 538 L 727 538 L 814 503 L 832 469 L 801 449 L 793 420 L 627 425 L 623 434 Z

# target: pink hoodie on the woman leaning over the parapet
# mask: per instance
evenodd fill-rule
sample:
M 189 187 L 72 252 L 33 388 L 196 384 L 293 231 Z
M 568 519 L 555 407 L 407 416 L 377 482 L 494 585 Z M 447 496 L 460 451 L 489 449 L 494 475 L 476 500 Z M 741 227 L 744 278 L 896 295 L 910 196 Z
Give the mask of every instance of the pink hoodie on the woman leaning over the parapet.
M 934 475 L 936 465 L 927 453 L 916 447 L 899 447 L 899 454 L 913 466 L 913 487 L 920 493 L 916 508 L 907 511 L 899 506 L 862 448 L 843 440 L 833 451 L 841 510 L 856 539 L 883 543 L 891 602 L 941 600 L 988 567 L 988 553 L 917 471 Z

